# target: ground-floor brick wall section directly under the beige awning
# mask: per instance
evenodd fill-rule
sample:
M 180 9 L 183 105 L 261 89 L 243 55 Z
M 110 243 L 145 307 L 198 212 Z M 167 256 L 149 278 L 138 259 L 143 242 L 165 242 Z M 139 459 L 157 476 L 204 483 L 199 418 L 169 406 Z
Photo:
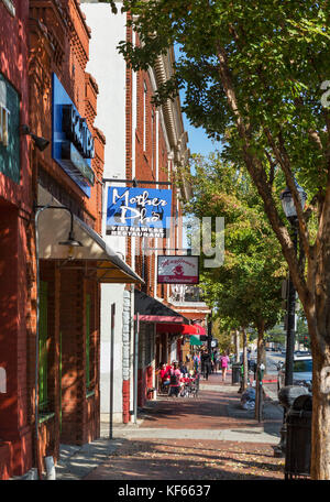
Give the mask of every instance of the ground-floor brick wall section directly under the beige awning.
M 90 386 L 86 384 L 86 295 L 90 295 Z M 81 271 L 61 281 L 62 435 L 82 445 L 99 437 L 99 292 Z

